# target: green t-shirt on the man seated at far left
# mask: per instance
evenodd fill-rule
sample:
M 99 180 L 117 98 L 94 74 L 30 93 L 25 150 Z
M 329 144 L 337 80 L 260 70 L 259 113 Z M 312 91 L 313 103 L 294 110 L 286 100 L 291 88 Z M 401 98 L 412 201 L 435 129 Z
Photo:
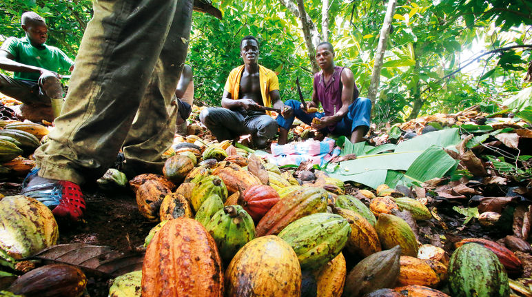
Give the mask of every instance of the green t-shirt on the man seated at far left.
M 26 65 L 37 66 L 53 72 L 67 72 L 74 62 L 59 48 L 44 45 L 43 49 L 35 48 L 27 37 L 10 37 L 3 42 L 1 50 L 13 55 L 14 61 Z M 14 72 L 14 79 L 38 81 L 39 72 Z

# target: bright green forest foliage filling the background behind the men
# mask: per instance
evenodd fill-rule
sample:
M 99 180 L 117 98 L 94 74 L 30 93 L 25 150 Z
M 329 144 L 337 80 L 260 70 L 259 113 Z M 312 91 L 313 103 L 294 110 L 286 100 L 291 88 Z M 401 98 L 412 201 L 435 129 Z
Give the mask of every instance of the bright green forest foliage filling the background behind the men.
M 223 13 L 222 20 L 194 12 L 192 22 L 187 63 L 194 70 L 196 104 L 219 105 L 227 74 L 242 63 L 238 42 L 246 35 L 259 41 L 259 63 L 278 74 L 283 101 L 298 99 L 296 78 L 310 98 L 317 71 L 313 46 L 320 41 L 334 45 L 336 64 L 353 70 L 360 95 L 367 96 L 388 1 L 212 4 Z M 72 59 L 92 16 L 88 0 L 6 0 L 0 8 L 0 42 L 22 37 L 21 14 L 34 11 L 48 23 L 48 44 Z M 397 1 L 374 122 L 456 112 L 479 103 L 493 112 L 497 104 L 531 86 L 531 29 L 530 0 Z

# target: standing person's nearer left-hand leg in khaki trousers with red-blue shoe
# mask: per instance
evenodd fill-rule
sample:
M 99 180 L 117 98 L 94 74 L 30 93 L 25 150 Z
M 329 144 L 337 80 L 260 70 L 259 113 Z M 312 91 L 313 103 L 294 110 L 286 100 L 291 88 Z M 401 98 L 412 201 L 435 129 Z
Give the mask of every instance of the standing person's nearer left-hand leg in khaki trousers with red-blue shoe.
M 79 192 L 75 183 L 98 178 L 108 169 L 139 109 L 176 6 L 183 3 L 192 9 L 191 0 L 94 1 L 94 17 L 81 41 L 63 113 L 50 141 L 35 152 L 41 170 L 39 178 L 28 178 L 25 194 L 31 196 L 32 187 L 39 192 L 42 185 L 56 185 L 58 180 L 61 187 L 66 181 L 69 189 Z M 65 201 L 59 198 L 58 203 Z M 54 214 L 74 219 L 82 215 L 79 205 L 61 205 Z

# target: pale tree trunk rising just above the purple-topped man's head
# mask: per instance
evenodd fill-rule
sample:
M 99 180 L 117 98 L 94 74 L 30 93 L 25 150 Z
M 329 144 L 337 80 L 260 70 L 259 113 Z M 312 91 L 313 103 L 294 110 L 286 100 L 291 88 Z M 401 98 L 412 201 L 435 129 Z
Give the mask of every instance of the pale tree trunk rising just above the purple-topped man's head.
M 294 3 L 294 1 L 297 1 Z M 316 62 L 316 45 L 321 42 L 321 34 L 316 30 L 316 25 L 312 22 L 303 0 L 279 0 L 289 12 L 299 18 L 301 27 L 303 28 L 303 37 L 305 37 L 305 43 L 307 44 L 307 54 L 309 55 L 310 65 L 312 66 L 312 72 L 316 73 L 320 71 L 318 63 Z

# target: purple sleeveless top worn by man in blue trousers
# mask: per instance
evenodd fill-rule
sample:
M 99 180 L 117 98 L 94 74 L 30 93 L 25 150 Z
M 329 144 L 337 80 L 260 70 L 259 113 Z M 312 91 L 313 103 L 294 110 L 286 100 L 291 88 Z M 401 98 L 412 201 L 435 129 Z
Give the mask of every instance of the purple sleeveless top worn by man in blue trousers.
M 344 68 L 345 67 L 334 66 L 334 73 L 327 83 L 325 83 L 323 80 L 323 70 L 314 74 L 314 90 L 316 90 L 316 95 L 323 106 L 325 116 L 336 114 L 340 107 L 342 107 L 343 85 L 340 75 L 342 74 L 342 70 L 344 70 Z M 353 90 L 353 99 L 357 98 L 358 88 L 356 88 L 355 84 Z

